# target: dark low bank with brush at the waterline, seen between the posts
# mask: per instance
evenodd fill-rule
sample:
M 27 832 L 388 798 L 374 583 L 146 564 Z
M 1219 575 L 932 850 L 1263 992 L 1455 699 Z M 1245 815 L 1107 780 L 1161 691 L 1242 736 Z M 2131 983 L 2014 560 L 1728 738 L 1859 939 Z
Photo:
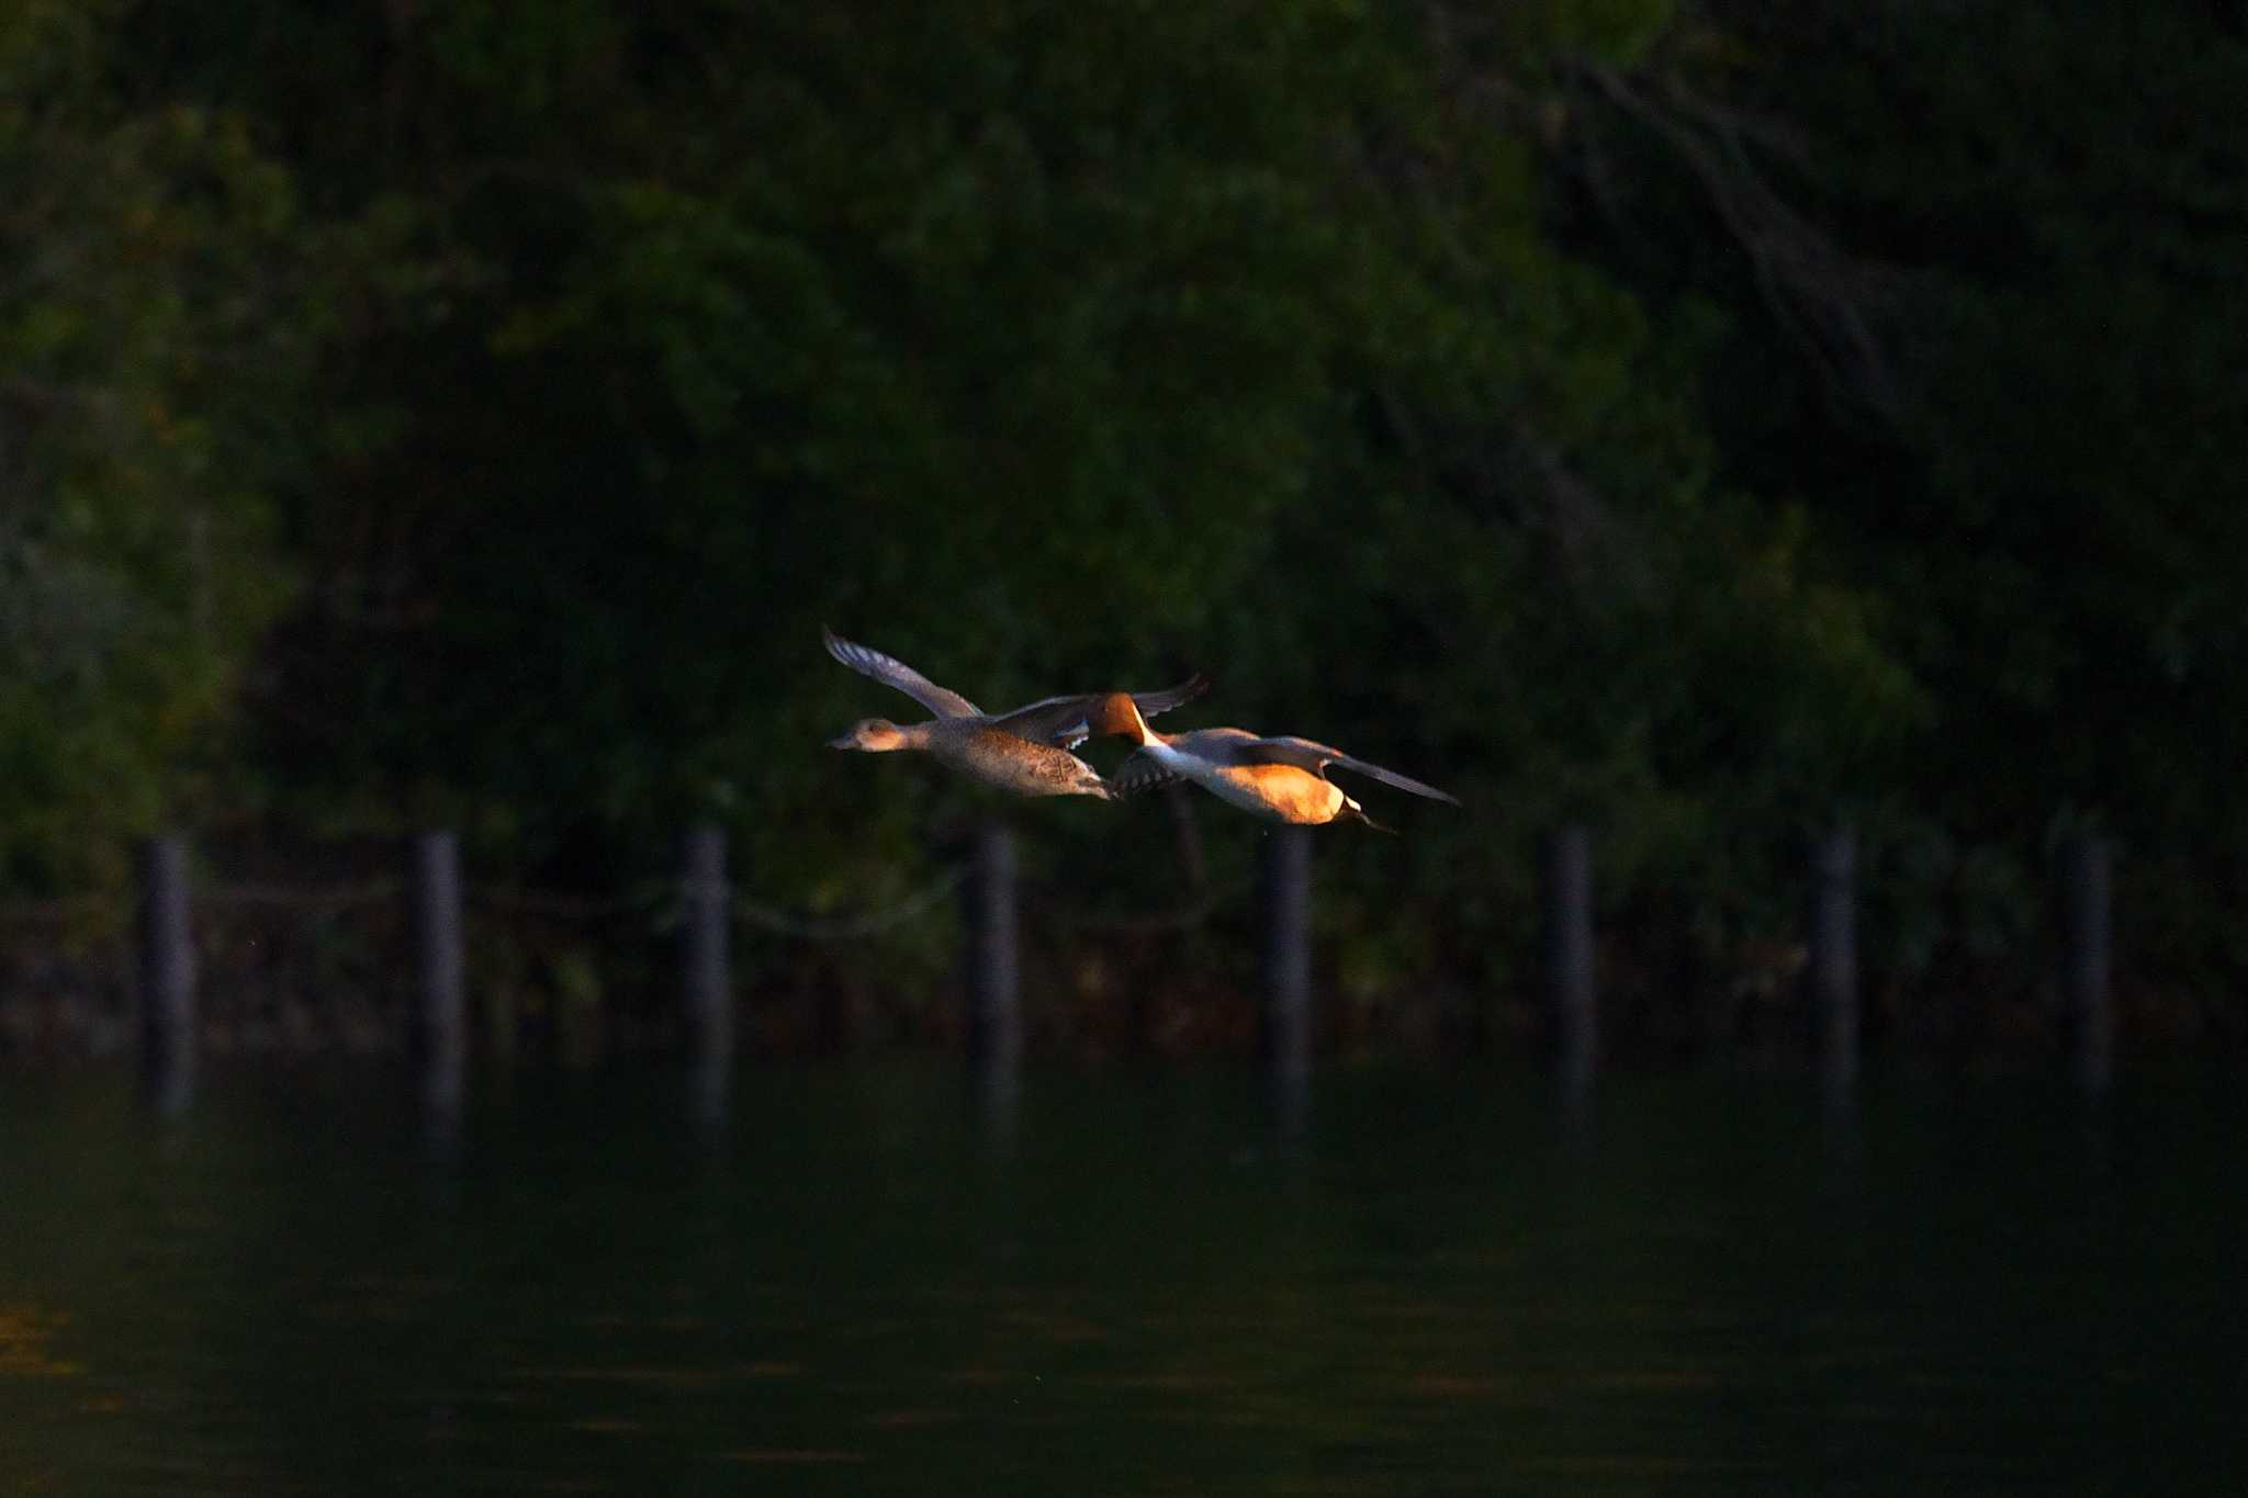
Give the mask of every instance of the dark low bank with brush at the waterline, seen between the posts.
M 312 885 L 268 867 L 256 883 L 198 880 L 189 894 L 193 1049 L 211 1058 L 407 1056 L 416 1026 L 411 880 L 384 876 L 366 844 Z M 722 851 L 719 851 L 722 858 Z M 207 871 L 205 871 L 207 874 Z M 967 867 L 888 910 L 809 916 L 724 898 L 722 925 L 746 979 L 722 968 L 728 1049 L 821 1056 L 971 1044 L 976 948 Z M 1097 912 L 1072 892 L 1021 892 L 1018 1020 L 1032 1053 L 1070 1060 L 1252 1056 L 1263 1004 L 1252 954 L 1272 919 L 1250 883 L 1212 885 L 1169 910 Z M 1848 901 L 1850 894 L 1843 892 Z M 650 878 L 614 894 L 465 880 L 463 1049 L 481 1062 L 589 1067 L 690 1047 L 681 1002 L 683 885 Z M 1441 966 L 1403 984 L 1351 972 L 1349 932 L 1311 898 L 1311 1051 L 1517 1056 L 1560 1042 L 1547 977 L 1517 970 L 1475 990 Z M 1803 1067 L 1821 1044 L 1816 943 L 1801 930 L 1742 934 L 1711 952 L 1664 952 L 1594 916 L 1601 1049 L 1621 1065 Z M 0 905 L 0 1058 L 99 1060 L 142 1047 L 142 972 L 130 894 Z M 1877 1058 L 1963 1062 L 2064 1058 L 2073 1044 L 2066 932 L 2023 932 L 2052 950 L 1947 952 L 1906 986 L 1875 961 L 1848 988 L 1852 1029 Z M 1879 952 L 1879 943 L 1875 946 Z M 2104 975 L 2102 975 L 2104 988 Z M 2124 1056 L 2187 1047 L 2239 1051 L 2223 1011 L 2181 1004 L 2124 961 L 2113 977 Z M 1852 1047 L 1855 1049 L 1855 1047 Z

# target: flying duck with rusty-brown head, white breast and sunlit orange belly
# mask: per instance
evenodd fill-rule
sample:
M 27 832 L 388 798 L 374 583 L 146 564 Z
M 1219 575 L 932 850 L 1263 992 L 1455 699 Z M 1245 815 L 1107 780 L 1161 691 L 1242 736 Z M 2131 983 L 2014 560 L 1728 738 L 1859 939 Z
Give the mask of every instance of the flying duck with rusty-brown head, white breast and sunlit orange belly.
M 1146 725 L 1137 703 L 1124 692 L 1111 692 L 1099 698 L 1086 721 L 1093 732 L 1120 734 L 1140 746 L 1108 777 L 1111 788 L 1120 797 L 1173 779 L 1191 779 L 1218 800 L 1272 822 L 1295 822 L 1299 826 L 1365 822 L 1376 831 L 1389 831 L 1369 817 L 1365 806 L 1344 795 L 1342 786 L 1326 779 L 1329 766 L 1342 766 L 1385 786 L 1459 806 L 1457 795 L 1448 795 L 1436 786 L 1423 786 L 1418 779 L 1385 770 L 1365 759 L 1353 759 L 1338 748 L 1313 743 L 1311 739 L 1259 739 L 1243 728 L 1198 728 L 1185 734 L 1160 734 Z

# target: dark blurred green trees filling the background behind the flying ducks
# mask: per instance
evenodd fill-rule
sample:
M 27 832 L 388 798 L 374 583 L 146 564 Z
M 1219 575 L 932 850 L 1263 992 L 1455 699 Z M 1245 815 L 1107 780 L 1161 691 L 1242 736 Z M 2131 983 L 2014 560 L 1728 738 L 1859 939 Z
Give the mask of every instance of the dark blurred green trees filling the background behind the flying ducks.
M 825 622 L 985 705 L 1205 669 L 1173 725 L 1461 795 L 1320 844 L 1344 1031 L 1520 1026 L 1533 840 L 1585 815 L 1650 1047 L 1735 1024 L 1837 820 L 1877 1031 L 2037 1029 L 2046 860 L 2100 829 L 2127 1026 L 2239 1038 L 2244 31 L 11 0 L 0 896 L 121 892 L 157 824 L 303 874 L 456 824 L 614 892 L 717 817 L 746 894 L 879 907 L 991 802 L 818 748 L 908 710 Z M 1012 813 L 1054 1024 L 1216 1038 L 1245 903 L 1108 921 L 1257 824 Z M 526 941 L 486 979 L 634 981 Z M 910 1029 L 951 943 L 740 963 Z

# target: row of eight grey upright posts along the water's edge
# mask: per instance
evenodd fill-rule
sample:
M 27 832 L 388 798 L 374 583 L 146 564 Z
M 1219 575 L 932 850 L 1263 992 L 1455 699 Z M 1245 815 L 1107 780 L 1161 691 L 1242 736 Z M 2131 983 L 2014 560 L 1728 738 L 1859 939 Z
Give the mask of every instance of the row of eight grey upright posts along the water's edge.
M 1311 838 L 1299 826 L 1266 833 L 1261 889 L 1261 1051 L 1275 1078 L 1299 1087 L 1311 1071 Z M 733 1071 L 733 894 L 726 838 L 717 826 L 686 835 L 681 860 L 681 984 L 695 1096 L 724 1107 Z M 1547 835 L 1540 858 L 1544 986 L 1553 1065 L 1567 1085 L 1592 1078 L 1601 1051 L 1594 961 L 1592 838 L 1583 824 Z M 184 1107 L 196 1080 L 196 963 L 189 921 L 187 842 L 151 838 L 142 849 L 142 1058 L 148 1096 Z M 2068 930 L 2066 995 L 2075 1080 L 2104 1091 L 2111 1076 L 2109 847 L 2077 838 L 2064 858 Z M 409 1047 L 423 1103 L 459 1109 L 468 1067 L 461 849 L 450 831 L 411 847 L 414 1008 Z M 976 838 L 964 880 L 967 1044 L 985 1069 L 1012 1071 L 1023 1051 L 1016 957 L 1016 853 L 1005 826 Z M 1821 838 L 1810 858 L 1805 988 L 1821 1078 L 1848 1089 L 1857 1078 L 1857 840 Z

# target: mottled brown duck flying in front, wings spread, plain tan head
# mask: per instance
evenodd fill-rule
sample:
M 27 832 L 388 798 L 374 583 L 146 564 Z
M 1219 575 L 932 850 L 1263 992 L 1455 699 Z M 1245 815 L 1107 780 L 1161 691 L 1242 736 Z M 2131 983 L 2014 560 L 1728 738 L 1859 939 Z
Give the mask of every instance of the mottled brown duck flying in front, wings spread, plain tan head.
M 892 723 L 890 719 L 865 719 L 841 739 L 830 739 L 827 748 L 886 755 L 890 750 L 926 750 L 944 764 L 962 770 L 987 786 L 1014 791 L 1016 795 L 1097 795 L 1108 800 L 1108 786 L 1099 770 L 1070 750 L 1095 730 L 1090 712 L 1108 701 L 1122 698 L 1131 707 L 1133 721 L 1144 725 L 1142 714 L 1155 716 L 1180 703 L 1189 703 L 1209 689 L 1209 681 L 1196 674 L 1167 692 L 1086 692 L 1079 696 L 1048 696 L 1016 707 L 1014 712 L 987 714 L 958 692 L 946 692 L 904 660 L 883 656 L 865 645 L 827 638 L 827 654 L 850 669 L 897 687 L 935 719 L 926 723 Z M 1108 710 L 1115 716 L 1115 710 Z

